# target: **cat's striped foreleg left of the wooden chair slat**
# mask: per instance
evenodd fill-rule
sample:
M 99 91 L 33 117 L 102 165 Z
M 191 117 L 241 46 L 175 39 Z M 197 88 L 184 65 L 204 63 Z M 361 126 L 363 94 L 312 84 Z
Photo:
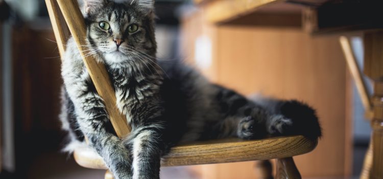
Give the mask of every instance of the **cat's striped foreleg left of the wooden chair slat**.
M 78 111 L 80 129 L 92 146 L 104 159 L 115 178 L 128 178 L 131 175 L 130 152 L 116 136 L 106 130 L 108 116 L 101 98 L 91 92 L 84 94 Z

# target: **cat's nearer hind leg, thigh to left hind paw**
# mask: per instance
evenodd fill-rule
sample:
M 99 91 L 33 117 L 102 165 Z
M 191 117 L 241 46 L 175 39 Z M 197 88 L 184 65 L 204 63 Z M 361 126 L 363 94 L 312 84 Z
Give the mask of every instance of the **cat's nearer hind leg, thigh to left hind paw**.
M 244 96 L 217 85 L 216 95 L 223 119 L 213 125 L 209 138 L 255 139 L 266 135 L 267 111 Z

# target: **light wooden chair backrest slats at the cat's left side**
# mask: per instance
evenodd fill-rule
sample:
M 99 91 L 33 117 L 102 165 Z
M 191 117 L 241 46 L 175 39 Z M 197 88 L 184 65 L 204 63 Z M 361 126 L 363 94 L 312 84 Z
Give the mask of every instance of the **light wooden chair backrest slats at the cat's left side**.
M 65 52 L 66 41 L 70 34 L 77 43 L 84 64 L 93 81 L 97 93 L 103 98 L 109 119 L 118 137 L 129 135 L 131 130 L 126 116 L 116 106 L 114 88 L 103 63 L 97 63 L 92 56 L 86 55 L 86 27 L 77 0 L 45 0 L 55 33 L 60 56 Z M 65 20 L 64 20 L 65 19 Z M 70 32 L 70 33 L 69 33 Z

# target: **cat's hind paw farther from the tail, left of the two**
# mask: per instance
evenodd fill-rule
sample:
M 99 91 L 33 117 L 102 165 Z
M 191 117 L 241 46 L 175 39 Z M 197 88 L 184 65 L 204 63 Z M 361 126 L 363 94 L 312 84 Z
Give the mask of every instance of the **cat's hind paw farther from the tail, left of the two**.
M 241 139 L 256 139 L 265 136 L 262 125 L 258 124 L 251 116 L 244 117 L 237 127 L 237 136 Z

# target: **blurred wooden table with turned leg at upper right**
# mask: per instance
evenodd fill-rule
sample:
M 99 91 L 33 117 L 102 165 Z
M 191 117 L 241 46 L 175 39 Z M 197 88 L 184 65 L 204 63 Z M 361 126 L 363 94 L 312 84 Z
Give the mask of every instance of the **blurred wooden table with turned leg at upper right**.
M 383 11 L 381 2 L 330 0 L 195 0 L 209 23 L 295 27 L 312 35 L 364 34 L 364 73 L 374 81 L 372 167 L 363 178 L 383 178 Z M 371 167 L 371 171 L 369 170 Z

